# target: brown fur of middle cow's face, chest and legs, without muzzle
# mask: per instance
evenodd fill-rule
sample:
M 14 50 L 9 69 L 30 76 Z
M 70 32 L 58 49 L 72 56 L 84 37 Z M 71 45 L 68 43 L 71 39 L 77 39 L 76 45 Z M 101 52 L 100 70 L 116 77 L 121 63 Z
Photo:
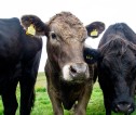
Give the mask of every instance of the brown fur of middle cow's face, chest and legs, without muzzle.
M 50 40 L 46 46 L 49 59 L 45 75 L 54 114 L 63 115 L 63 106 L 70 110 L 74 106 L 74 115 L 85 115 L 93 87 L 92 77 L 85 79 L 84 76 L 84 81 L 80 84 L 65 81 L 62 72 L 66 64 L 84 63 L 82 41 L 86 38 L 85 27 L 74 15 L 66 12 L 55 15 L 49 26 L 59 37 L 59 46 L 52 46 Z

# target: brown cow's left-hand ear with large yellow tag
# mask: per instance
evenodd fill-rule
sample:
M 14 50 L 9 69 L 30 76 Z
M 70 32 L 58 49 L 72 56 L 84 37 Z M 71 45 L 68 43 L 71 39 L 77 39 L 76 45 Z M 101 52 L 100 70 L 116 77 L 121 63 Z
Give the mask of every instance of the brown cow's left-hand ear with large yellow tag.
M 27 35 L 44 36 L 49 33 L 49 27 L 36 15 L 23 15 L 21 23 Z

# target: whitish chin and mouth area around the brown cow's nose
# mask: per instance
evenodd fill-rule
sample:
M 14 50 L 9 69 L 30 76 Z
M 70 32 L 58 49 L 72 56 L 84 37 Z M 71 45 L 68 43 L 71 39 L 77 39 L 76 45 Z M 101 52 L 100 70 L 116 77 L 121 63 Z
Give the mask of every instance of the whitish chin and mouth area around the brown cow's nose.
M 66 82 L 77 82 L 77 84 L 82 84 L 85 82 L 89 78 L 89 71 L 84 75 L 72 75 L 69 69 L 70 65 L 65 65 L 63 67 L 63 76 L 62 80 Z

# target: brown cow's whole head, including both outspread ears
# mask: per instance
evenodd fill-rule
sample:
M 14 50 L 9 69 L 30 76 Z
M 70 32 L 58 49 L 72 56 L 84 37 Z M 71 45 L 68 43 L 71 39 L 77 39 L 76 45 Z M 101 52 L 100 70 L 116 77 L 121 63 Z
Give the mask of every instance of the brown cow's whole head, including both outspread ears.
M 45 24 L 37 16 L 24 15 L 22 24 L 25 28 L 32 24 L 36 35 L 47 37 L 47 60 L 64 80 L 82 81 L 89 78 L 89 67 L 83 59 L 84 41 L 87 35 L 98 37 L 105 29 L 104 23 L 96 22 L 84 27 L 71 13 L 62 12 Z

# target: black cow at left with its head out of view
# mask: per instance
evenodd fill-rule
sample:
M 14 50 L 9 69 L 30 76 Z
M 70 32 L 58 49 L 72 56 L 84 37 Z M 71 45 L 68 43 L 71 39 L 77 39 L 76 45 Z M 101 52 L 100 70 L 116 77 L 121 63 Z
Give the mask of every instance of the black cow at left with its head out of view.
M 0 20 L 0 94 L 4 115 L 15 115 L 16 86 L 21 86 L 21 115 L 30 115 L 42 40 L 26 35 L 19 20 Z

